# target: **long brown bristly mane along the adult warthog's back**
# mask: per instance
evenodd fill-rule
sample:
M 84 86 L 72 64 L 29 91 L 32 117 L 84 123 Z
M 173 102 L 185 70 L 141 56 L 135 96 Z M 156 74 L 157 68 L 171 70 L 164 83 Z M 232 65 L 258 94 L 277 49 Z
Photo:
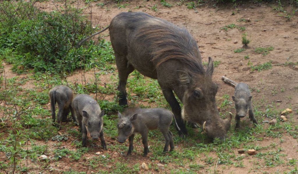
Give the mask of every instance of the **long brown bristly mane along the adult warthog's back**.
M 190 67 L 190 71 L 206 74 L 198 46 L 190 33 L 160 18 L 147 18 L 136 31 L 136 39 L 154 46 L 153 61 L 157 66 L 168 60 L 176 60 Z

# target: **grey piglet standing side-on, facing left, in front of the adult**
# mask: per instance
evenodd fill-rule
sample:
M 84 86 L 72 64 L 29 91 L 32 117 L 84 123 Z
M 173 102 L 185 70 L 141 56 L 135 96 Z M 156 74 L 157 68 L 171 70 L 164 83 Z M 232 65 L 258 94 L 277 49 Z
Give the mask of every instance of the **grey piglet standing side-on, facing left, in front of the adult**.
M 142 143 L 144 145 L 144 156 L 148 154 L 148 131 L 159 129 L 164 138 L 164 152 L 174 149 L 173 134 L 169 130 L 172 123 L 173 113 L 163 108 L 128 108 L 123 115 L 118 112 L 119 121 L 118 128 L 118 142 L 123 143 L 129 139 L 128 155 L 133 150 L 133 141 L 135 133 L 142 136 Z

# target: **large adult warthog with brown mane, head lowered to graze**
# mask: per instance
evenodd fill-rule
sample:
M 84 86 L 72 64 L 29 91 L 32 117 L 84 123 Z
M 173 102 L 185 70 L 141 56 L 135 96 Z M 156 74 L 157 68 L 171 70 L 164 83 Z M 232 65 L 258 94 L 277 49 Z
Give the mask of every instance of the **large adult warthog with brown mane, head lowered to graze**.
M 205 70 L 196 41 L 186 29 L 142 12 L 119 13 L 100 32 L 108 28 L 119 73 L 120 105 L 127 104 L 127 78 L 136 69 L 158 80 L 180 135 L 187 133 L 184 119 L 203 125 L 210 138 L 226 137 L 230 122 L 220 118 L 215 104 L 218 86 L 212 82 L 212 59 Z M 173 91 L 183 103 L 182 112 Z

